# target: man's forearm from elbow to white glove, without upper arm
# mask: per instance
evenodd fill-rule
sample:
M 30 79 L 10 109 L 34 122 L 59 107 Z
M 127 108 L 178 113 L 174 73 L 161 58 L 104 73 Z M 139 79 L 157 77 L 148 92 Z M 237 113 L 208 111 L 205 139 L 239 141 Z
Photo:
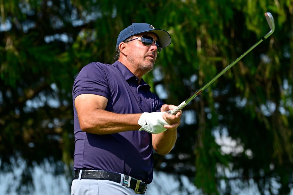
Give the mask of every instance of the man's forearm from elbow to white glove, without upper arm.
M 141 114 L 117 114 L 102 109 L 95 109 L 86 116 L 78 117 L 81 130 L 94 134 L 111 134 L 137 130 Z

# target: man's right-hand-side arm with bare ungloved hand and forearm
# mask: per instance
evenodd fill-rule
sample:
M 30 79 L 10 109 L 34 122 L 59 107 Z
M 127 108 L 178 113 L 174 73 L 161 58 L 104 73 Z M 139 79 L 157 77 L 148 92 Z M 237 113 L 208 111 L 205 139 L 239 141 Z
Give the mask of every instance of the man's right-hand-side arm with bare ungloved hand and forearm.
M 174 108 L 176 108 L 176 106 L 165 104 L 162 106 L 161 112 L 166 112 Z M 164 126 L 167 131 L 158 134 L 152 134 L 153 148 L 158 154 L 168 154 L 175 145 L 177 140 L 177 127 L 180 125 L 181 115 L 182 111 L 178 112 L 176 115 L 171 115 L 168 113 L 163 115 L 163 119 L 170 124 Z

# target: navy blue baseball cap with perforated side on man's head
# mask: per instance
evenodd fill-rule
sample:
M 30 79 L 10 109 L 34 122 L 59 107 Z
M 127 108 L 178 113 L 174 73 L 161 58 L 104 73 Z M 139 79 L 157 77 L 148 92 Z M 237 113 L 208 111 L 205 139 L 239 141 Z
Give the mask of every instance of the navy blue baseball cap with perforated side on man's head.
M 171 36 L 166 30 L 155 29 L 152 25 L 147 23 L 132 23 L 132 25 L 120 32 L 117 38 L 116 48 L 118 48 L 118 45 L 125 41 L 128 37 L 145 32 L 157 34 L 163 48 L 168 47 L 171 44 Z

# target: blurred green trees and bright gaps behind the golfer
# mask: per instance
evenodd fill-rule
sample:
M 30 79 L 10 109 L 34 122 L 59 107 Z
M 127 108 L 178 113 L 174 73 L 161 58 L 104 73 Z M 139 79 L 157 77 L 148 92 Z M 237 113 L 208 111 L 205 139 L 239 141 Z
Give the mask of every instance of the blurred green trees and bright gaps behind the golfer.
M 113 63 L 133 22 L 172 43 L 144 80 L 179 105 L 276 30 L 184 108 L 147 194 L 293 194 L 292 0 L 0 0 L 0 193 L 70 194 L 72 86 Z

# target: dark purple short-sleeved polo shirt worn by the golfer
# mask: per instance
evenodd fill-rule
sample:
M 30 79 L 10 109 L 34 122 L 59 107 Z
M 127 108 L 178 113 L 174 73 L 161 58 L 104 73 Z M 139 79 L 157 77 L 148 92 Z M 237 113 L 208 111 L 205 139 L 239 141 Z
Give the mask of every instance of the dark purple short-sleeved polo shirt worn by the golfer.
M 150 86 L 134 76 L 121 62 L 92 62 L 81 69 L 73 86 L 74 170 L 100 169 L 150 183 L 153 179 L 152 135 L 146 131 L 96 135 L 81 131 L 74 99 L 96 94 L 108 99 L 105 110 L 121 114 L 157 112 L 163 102 Z

